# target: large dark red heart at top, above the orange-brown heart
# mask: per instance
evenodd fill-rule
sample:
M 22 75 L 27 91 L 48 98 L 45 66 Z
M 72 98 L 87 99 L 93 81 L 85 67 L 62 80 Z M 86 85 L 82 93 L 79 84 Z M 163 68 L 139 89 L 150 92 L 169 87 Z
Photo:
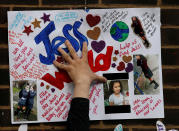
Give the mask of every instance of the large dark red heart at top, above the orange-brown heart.
M 86 21 L 90 27 L 97 25 L 100 22 L 100 20 L 101 20 L 100 16 L 92 16 L 92 14 L 88 14 L 86 16 Z

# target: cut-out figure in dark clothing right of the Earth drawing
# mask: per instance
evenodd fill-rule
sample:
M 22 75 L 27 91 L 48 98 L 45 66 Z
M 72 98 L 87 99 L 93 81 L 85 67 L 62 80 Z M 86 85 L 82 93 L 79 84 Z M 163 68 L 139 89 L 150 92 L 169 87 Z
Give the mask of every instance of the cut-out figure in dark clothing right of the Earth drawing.
M 142 24 L 141 24 L 141 21 L 139 20 L 138 17 L 136 17 L 136 16 L 132 17 L 132 25 L 131 25 L 131 27 L 133 28 L 134 33 L 136 35 L 138 35 L 143 40 L 144 46 L 146 48 L 149 48 L 150 43 L 146 38 L 145 31 L 144 31 L 144 29 L 142 27 Z

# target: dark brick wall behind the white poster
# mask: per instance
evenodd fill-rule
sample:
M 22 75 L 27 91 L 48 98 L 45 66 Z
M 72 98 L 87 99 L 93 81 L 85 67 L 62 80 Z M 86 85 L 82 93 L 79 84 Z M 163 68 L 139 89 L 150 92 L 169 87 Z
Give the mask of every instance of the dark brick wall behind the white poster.
M 160 7 L 162 71 L 167 129 L 179 129 L 179 0 L 87 0 L 88 8 Z M 0 0 L 0 131 L 16 131 L 10 122 L 8 10 L 84 8 L 84 0 Z M 121 123 L 126 131 L 155 131 L 158 119 L 91 121 L 91 131 L 110 131 Z M 65 123 L 29 124 L 30 131 L 65 130 Z

